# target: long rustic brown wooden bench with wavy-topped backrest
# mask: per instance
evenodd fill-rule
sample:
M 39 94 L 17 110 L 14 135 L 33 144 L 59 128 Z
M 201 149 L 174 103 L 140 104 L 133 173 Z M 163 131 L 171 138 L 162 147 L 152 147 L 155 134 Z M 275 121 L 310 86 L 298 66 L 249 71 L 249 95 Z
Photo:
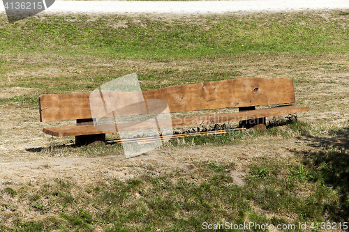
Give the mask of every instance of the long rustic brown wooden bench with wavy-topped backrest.
M 120 93 L 111 94 L 115 94 L 113 98 L 115 102 L 119 103 L 123 100 Z M 172 118 L 172 127 L 239 121 L 240 127 L 265 129 L 266 117 L 294 114 L 309 109 L 290 105 L 295 103 L 295 90 L 290 78 L 227 79 L 158 88 L 142 91 L 142 94 L 145 101 L 148 99 L 165 100 L 168 102 L 171 113 L 239 108 L 239 112 L 229 114 L 203 114 Z M 105 144 L 105 131 L 102 133 L 94 127 L 89 98 L 90 93 L 41 95 L 39 98 L 41 122 L 76 120 L 76 125 L 44 128 L 43 132 L 57 137 L 75 136 L 77 145 Z M 279 106 L 255 109 L 256 106 L 264 105 Z M 124 115 L 127 114 L 127 112 L 124 113 Z

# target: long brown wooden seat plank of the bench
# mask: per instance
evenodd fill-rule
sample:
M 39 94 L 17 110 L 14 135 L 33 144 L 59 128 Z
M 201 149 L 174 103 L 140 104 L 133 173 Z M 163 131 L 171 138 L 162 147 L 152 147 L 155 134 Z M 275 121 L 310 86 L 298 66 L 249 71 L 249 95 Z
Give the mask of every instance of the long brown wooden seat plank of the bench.
M 201 116 L 188 116 L 181 118 L 172 118 L 172 127 L 182 127 L 189 125 L 210 125 L 216 123 L 232 123 L 235 121 L 244 121 L 250 120 L 253 118 L 265 118 L 270 116 L 282 115 L 282 114 L 293 114 L 302 111 L 308 111 L 308 107 L 297 107 L 294 105 L 273 107 L 268 109 L 257 109 L 254 111 L 244 111 L 231 114 L 205 114 Z M 160 125 L 166 125 L 167 120 L 159 120 Z M 149 121 L 149 123 L 123 123 L 118 124 L 115 128 L 114 124 L 112 125 L 101 125 L 98 128 L 104 128 L 103 132 L 120 132 L 120 131 L 137 131 L 137 130 L 146 130 L 151 128 L 156 128 L 155 121 Z M 100 129 L 100 130 L 101 130 Z M 58 137 L 67 137 L 83 134 L 100 134 L 101 131 L 96 130 L 94 125 L 73 125 L 73 126 L 64 126 L 64 127 L 50 127 L 43 129 L 43 132 L 46 134 L 58 136 Z

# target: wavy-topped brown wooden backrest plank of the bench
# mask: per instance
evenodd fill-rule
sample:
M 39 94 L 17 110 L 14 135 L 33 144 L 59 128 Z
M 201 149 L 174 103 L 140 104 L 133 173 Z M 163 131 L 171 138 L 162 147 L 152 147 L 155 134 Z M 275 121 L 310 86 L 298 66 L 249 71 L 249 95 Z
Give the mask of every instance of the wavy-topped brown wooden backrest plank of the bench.
M 99 94 L 99 93 L 94 93 Z M 204 82 L 170 86 L 149 91 L 142 91 L 145 100 L 161 99 L 168 103 L 171 113 L 198 111 L 205 109 L 223 109 L 228 107 L 250 107 L 258 105 L 277 105 L 295 103 L 293 82 L 290 78 L 261 79 L 239 78 L 218 82 Z M 103 93 L 109 99 L 109 107 L 123 108 L 117 115 L 143 114 L 135 99 L 138 92 Z M 90 93 L 66 93 L 40 96 L 40 121 L 63 121 L 91 118 Z M 145 103 L 144 103 L 145 104 Z M 143 105 L 144 105 L 143 104 Z M 141 102 L 142 105 L 142 102 Z M 158 106 L 156 106 L 158 107 Z M 156 107 L 148 105 L 149 109 Z M 105 106 L 96 104 L 92 107 L 94 115 L 105 116 Z M 160 109 L 163 108 L 161 105 Z

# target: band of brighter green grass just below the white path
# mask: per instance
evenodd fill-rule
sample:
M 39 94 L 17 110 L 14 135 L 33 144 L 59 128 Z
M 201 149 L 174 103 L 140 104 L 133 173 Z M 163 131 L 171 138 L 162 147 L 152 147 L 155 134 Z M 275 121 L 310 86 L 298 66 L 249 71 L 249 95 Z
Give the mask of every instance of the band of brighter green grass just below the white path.
M 188 59 L 246 52 L 341 52 L 348 49 L 348 15 L 214 15 L 195 21 L 88 15 L 30 17 L 14 24 L 1 18 L 6 52 L 93 54 L 116 59 Z M 117 24 L 122 24 L 117 28 Z M 114 25 L 114 26 L 113 26 Z M 43 63 L 45 67 L 45 63 Z

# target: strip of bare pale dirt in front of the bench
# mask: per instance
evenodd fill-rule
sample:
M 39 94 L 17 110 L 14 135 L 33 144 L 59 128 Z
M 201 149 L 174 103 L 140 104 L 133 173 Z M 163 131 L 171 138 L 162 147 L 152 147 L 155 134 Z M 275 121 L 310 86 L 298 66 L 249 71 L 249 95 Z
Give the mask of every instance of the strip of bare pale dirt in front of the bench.
M 133 178 L 147 173 L 149 165 L 153 173 L 161 175 L 176 169 L 190 171 L 195 169 L 198 162 L 211 161 L 235 163 L 236 171 L 232 173 L 234 183 L 244 185 L 243 177 L 249 171 L 249 163 L 258 157 L 274 157 L 276 160 L 292 159 L 290 149 L 299 150 L 306 146 L 306 144 L 297 144 L 296 141 L 297 139 L 283 141 L 283 145 L 280 146 L 279 139 L 260 137 L 235 146 L 165 147 L 128 159 L 124 155 L 50 157 L 36 155 L 28 149 L 18 149 L 1 155 L 0 178 L 2 183 L 20 184 L 29 181 L 47 183 L 54 178 L 70 176 L 76 183 L 87 185 L 109 178 Z

